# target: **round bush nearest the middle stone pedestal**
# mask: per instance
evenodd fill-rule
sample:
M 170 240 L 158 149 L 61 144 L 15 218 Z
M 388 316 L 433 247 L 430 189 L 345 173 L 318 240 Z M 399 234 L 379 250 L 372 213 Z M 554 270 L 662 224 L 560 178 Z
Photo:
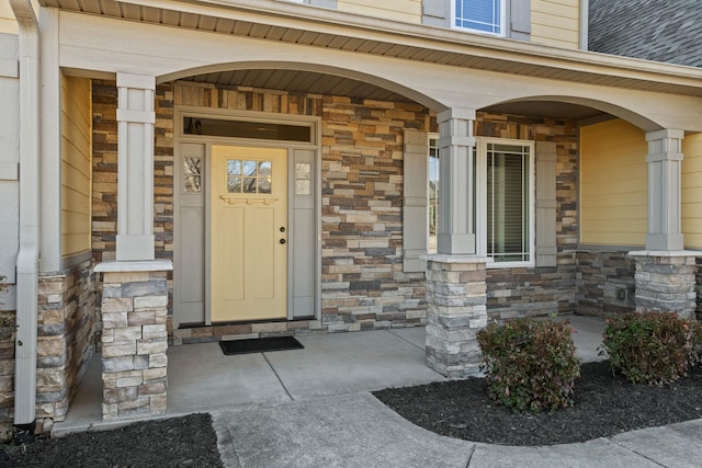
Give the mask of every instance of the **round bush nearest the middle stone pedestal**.
M 489 395 L 518 411 L 554 411 L 573 404 L 580 376 L 569 323 L 518 319 L 480 330 Z

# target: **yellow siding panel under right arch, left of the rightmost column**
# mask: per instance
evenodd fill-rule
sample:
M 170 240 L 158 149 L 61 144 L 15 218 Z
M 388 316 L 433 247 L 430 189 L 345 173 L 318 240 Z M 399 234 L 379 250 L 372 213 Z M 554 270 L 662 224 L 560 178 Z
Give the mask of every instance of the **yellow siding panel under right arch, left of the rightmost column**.
M 644 132 L 625 121 L 580 129 L 581 243 L 646 243 L 646 153 Z

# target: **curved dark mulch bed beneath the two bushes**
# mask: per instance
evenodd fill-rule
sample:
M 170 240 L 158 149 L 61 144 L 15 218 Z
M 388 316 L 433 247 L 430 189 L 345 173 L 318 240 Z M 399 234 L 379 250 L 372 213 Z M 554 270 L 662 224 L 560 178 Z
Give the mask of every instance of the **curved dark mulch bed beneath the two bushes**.
M 437 434 L 506 445 L 552 445 L 702 418 L 702 366 L 664 387 L 629 384 L 610 365 L 584 364 L 575 404 L 553 413 L 514 413 L 487 396 L 482 378 L 390 388 L 373 393 Z

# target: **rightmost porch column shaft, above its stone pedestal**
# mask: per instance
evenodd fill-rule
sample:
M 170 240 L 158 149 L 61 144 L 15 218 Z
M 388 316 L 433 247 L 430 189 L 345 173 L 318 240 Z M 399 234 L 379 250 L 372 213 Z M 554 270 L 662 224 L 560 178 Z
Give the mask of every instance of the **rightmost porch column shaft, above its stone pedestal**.
M 646 134 L 648 141 L 648 233 L 647 250 L 682 250 L 680 228 L 680 165 L 682 130 Z

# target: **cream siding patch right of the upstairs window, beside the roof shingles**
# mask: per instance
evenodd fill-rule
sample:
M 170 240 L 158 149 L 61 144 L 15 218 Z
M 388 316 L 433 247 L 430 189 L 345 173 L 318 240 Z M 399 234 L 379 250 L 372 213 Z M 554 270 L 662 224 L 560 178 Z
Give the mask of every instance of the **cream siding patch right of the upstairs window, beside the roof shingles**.
M 532 0 L 531 41 L 554 47 L 578 48 L 579 0 Z

